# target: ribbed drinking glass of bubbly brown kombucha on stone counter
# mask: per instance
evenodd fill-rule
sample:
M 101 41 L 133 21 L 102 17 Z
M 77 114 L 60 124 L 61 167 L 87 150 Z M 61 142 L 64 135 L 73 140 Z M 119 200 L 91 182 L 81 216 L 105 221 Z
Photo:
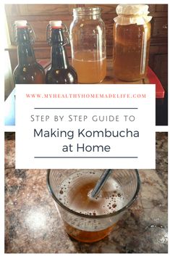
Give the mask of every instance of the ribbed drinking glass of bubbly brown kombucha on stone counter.
M 137 170 L 114 170 L 98 195 L 91 191 L 103 170 L 49 170 L 47 185 L 69 236 L 94 242 L 107 236 L 140 190 Z

